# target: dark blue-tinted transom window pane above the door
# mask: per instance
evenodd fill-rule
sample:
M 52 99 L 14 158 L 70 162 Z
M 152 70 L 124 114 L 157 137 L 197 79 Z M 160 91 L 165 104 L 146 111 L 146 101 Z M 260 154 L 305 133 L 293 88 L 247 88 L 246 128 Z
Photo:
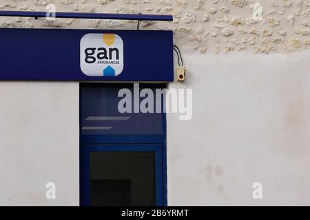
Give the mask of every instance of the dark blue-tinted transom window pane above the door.
M 162 85 L 157 85 L 161 87 Z M 156 94 L 155 88 L 149 88 L 147 85 L 141 85 L 143 88 L 151 89 Z M 129 89 L 134 94 L 132 84 L 84 87 L 81 90 L 83 107 L 81 112 L 82 135 L 158 135 L 163 134 L 163 113 L 120 113 L 118 111 L 118 102 L 123 97 L 118 97 L 118 91 Z M 140 98 L 141 101 L 144 98 Z M 154 102 L 153 110 L 161 102 Z M 161 104 L 162 106 L 162 104 Z M 132 98 L 132 107 L 134 107 L 134 98 Z M 133 109 L 132 109 L 133 110 Z M 94 116 L 101 116 L 94 117 Z M 105 116 L 105 119 L 102 118 Z M 114 118 L 125 117 L 125 120 L 107 120 L 108 116 Z M 91 119 L 92 118 L 92 119 Z M 141 126 L 143 124 L 143 126 Z M 109 127 L 110 129 L 83 129 L 87 127 Z

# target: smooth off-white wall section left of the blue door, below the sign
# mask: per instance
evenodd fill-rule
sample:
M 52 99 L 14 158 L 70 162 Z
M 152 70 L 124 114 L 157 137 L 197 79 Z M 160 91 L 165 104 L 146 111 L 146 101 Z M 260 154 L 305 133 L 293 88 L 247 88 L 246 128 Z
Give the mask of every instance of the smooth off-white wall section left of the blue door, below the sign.
M 0 206 L 79 206 L 79 83 L 1 82 L 0 135 Z

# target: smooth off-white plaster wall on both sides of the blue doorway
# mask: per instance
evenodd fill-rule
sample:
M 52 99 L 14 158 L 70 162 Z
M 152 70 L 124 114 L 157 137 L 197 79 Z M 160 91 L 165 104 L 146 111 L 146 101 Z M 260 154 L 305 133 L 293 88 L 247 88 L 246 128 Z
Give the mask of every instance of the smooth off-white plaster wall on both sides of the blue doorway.
M 169 205 L 309 205 L 309 52 L 202 58 L 169 85 L 194 94 L 192 120 L 167 115 Z M 79 84 L 3 82 L 0 100 L 0 204 L 79 205 Z

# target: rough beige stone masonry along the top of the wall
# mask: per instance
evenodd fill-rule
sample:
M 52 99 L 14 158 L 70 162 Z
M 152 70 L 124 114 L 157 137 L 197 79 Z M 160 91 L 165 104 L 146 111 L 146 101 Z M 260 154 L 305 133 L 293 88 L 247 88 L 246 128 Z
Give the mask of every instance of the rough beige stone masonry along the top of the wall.
M 182 50 L 289 54 L 309 48 L 310 1 L 301 0 L 1 0 L 0 10 L 172 14 L 172 22 L 143 22 L 141 30 L 173 30 Z M 260 11 L 261 10 L 261 11 Z M 1 17 L 1 28 L 136 29 L 136 21 Z M 229 30 L 229 32 L 227 32 Z M 194 33 L 195 32 L 195 33 Z M 233 48 L 231 45 L 234 45 Z M 216 50 L 206 50 L 216 48 Z

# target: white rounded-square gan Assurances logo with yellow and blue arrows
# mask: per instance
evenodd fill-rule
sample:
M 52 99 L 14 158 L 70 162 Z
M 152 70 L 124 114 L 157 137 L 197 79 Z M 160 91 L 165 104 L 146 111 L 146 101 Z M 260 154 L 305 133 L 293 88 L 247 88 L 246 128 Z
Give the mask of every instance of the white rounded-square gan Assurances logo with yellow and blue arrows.
M 86 34 L 80 62 L 87 76 L 118 76 L 124 67 L 123 40 L 117 34 Z

